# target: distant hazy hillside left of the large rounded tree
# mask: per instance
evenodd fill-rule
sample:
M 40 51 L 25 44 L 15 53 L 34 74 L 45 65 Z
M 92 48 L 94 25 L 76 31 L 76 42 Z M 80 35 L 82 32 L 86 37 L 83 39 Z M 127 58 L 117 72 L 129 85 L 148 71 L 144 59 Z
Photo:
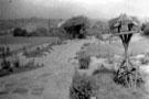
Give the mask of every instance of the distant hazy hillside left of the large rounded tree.
M 10 30 L 13 28 L 29 28 L 32 26 L 44 26 L 51 28 L 57 26 L 57 24 L 63 21 L 62 19 L 40 19 L 40 18 L 30 18 L 30 19 L 17 19 L 17 20 L 0 20 L 0 31 Z

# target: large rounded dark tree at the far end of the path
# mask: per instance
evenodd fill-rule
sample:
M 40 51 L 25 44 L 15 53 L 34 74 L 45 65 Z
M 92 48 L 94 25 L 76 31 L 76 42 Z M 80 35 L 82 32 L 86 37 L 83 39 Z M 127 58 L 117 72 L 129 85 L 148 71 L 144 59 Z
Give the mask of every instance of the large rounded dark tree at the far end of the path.
M 75 16 L 67 20 L 62 28 L 70 34 L 72 38 L 83 38 L 86 36 L 87 29 L 89 28 L 89 21 L 85 16 Z

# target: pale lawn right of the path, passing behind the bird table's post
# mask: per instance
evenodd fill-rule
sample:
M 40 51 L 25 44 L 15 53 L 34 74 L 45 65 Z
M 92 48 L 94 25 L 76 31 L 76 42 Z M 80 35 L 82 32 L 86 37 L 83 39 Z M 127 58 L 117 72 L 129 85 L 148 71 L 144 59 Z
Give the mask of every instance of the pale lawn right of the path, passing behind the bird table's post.
M 124 46 L 119 38 L 117 42 L 113 43 L 102 43 L 102 44 L 88 44 L 86 47 L 86 54 L 89 56 L 100 56 L 100 57 L 107 57 L 113 55 L 124 55 Z M 139 41 L 131 41 L 129 44 L 129 53 L 132 55 L 137 55 L 140 53 L 148 53 L 149 52 L 149 44 L 148 40 L 139 40 Z

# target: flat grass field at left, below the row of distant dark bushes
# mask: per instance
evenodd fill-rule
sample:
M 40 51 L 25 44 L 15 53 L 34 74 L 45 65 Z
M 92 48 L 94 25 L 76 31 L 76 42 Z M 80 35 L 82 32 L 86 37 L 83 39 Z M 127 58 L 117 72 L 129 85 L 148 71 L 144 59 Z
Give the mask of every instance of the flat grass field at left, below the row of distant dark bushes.
M 62 41 L 57 37 L 13 37 L 13 36 L 1 36 L 0 37 L 0 44 L 1 46 L 7 46 L 10 48 L 10 53 L 19 53 L 22 52 L 24 47 L 32 48 L 38 45 L 42 45 L 45 43 L 50 43 L 52 45 L 60 45 L 62 44 Z M 38 54 L 35 53 L 38 52 Z M 40 52 L 49 52 L 46 47 L 40 50 Z M 8 56 L 11 56 L 8 55 Z M 43 54 L 40 54 L 39 51 L 34 50 L 33 52 L 30 52 L 32 54 L 31 56 L 42 56 Z M 26 55 L 30 57 L 30 55 Z M 1 58 L 1 56 L 0 56 Z

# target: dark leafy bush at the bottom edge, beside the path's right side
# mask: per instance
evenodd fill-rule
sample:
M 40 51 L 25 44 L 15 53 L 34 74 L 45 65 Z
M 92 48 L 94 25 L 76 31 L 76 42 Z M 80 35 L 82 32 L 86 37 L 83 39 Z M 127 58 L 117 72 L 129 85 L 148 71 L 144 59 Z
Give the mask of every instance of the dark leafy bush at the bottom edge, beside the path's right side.
M 92 82 L 87 76 L 75 74 L 70 87 L 70 99 L 89 99 L 92 96 Z

